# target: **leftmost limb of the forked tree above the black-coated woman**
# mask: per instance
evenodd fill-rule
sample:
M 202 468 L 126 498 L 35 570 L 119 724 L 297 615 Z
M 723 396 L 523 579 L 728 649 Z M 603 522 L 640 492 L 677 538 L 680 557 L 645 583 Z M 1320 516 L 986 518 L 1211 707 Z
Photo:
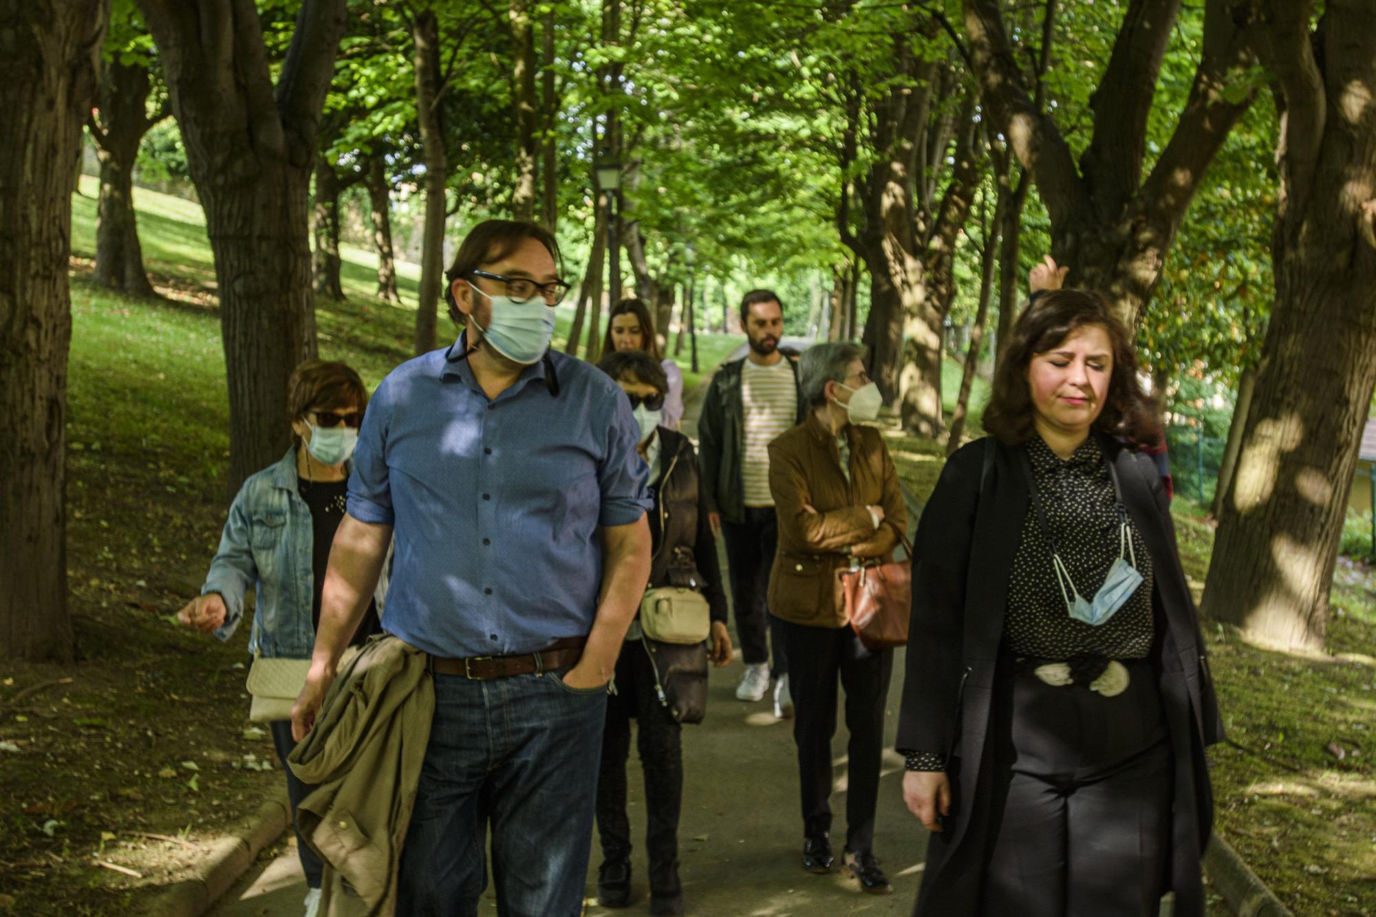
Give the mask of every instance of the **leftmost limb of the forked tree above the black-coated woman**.
M 1035 176 L 1053 224 L 1069 223 L 1075 213 L 1088 207 L 1088 193 L 1075 168 L 1071 147 L 1022 87 L 998 0 L 963 0 L 963 7 L 980 96 L 1018 162 Z

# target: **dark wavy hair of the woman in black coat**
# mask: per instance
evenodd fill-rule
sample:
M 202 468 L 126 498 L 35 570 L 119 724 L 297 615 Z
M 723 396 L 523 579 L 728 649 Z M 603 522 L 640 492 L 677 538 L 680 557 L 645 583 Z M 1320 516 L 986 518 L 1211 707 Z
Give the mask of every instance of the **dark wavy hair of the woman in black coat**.
M 1010 446 L 1032 436 L 1033 406 L 1032 392 L 1028 390 L 1028 365 L 1033 357 L 1053 350 L 1086 325 L 1102 328 L 1113 347 L 1109 394 L 1104 410 L 1094 421 L 1094 430 L 1131 446 L 1150 446 L 1161 438 L 1156 405 L 1137 380 L 1137 348 L 1132 339 L 1102 296 L 1079 289 L 1043 293 L 1018 315 L 1009 348 L 993 376 L 989 405 L 984 409 L 984 428 L 989 435 Z

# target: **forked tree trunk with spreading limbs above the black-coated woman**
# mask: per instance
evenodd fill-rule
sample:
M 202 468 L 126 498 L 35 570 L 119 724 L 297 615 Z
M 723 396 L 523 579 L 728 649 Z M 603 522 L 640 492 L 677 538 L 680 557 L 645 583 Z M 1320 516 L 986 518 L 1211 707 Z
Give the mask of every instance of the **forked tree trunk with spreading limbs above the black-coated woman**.
M 998 0 L 963 0 L 981 98 L 1038 185 L 1051 218 L 1051 253 L 1071 268 L 1066 284 L 1104 292 L 1130 326 L 1150 300 L 1205 169 L 1255 96 L 1230 102 L 1225 92 L 1238 67 L 1255 63 L 1252 6 L 1205 0 L 1189 99 L 1143 179 L 1148 116 L 1181 0 L 1128 4 L 1093 98 L 1093 136 L 1079 165 L 1053 118 L 1024 89 Z

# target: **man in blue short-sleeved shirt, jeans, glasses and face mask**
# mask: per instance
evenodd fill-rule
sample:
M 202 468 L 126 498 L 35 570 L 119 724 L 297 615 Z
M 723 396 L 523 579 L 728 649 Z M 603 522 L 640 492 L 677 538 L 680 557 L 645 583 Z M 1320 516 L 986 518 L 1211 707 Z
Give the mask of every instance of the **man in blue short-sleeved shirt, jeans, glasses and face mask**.
M 383 628 L 431 654 L 435 717 L 398 913 L 578 914 L 605 686 L 649 576 L 640 428 L 619 387 L 548 350 L 567 285 L 531 223 L 488 220 L 447 271 L 453 347 L 377 387 L 325 577 L 303 737 L 388 538 Z

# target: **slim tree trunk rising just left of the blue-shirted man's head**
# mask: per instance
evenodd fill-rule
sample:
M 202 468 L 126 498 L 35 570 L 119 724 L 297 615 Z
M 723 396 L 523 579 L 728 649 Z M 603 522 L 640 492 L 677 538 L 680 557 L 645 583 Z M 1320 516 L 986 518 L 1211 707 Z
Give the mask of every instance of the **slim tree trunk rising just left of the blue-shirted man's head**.
M 416 310 L 416 352 L 435 350 L 444 271 L 444 131 L 440 124 L 439 19 L 433 10 L 411 21 L 411 65 L 416 70 L 416 117 L 425 160 L 425 230 L 421 241 L 421 286 Z

